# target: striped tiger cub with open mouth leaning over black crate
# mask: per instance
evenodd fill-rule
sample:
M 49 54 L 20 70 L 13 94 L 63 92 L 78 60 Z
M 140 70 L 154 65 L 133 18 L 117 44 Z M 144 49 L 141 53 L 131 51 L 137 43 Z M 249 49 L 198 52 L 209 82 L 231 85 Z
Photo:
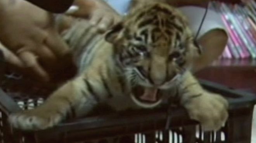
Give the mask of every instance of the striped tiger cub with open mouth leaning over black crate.
M 78 20 L 63 35 L 74 49 L 87 46 L 78 76 L 36 109 L 11 114 L 14 127 L 50 128 L 69 113 L 84 116 L 100 103 L 117 111 L 156 108 L 175 94 L 204 130 L 218 130 L 225 124 L 227 101 L 202 89 L 190 72 L 200 49 L 177 9 L 160 2 L 137 7 L 106 34 L 94 38 L 94 44 L 86 43 L 88 31 L 93 33 L 83 29 L 86 26 Z

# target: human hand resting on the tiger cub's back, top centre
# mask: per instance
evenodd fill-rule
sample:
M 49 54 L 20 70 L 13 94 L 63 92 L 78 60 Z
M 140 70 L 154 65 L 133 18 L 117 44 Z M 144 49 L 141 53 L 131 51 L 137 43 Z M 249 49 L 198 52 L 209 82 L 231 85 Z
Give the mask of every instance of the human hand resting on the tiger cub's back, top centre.
M 78 6 L 78 9 L 67 10 L 66 14 L 89 19 L 89 22 L 96 25 L 100 32 L 106 31 L 121 19 L 104 0 L 75 0 L 74 5 Z

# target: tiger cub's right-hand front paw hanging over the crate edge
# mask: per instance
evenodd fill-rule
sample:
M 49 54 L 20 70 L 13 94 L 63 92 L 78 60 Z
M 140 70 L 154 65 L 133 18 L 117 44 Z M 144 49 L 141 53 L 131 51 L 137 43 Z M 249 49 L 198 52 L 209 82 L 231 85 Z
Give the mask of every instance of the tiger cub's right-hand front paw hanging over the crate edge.
M 190 118 L 199 121 L 204 131 L 219 130 L 228 119 L 228 102 L 218 94 L 204 92 L 184 106 Z

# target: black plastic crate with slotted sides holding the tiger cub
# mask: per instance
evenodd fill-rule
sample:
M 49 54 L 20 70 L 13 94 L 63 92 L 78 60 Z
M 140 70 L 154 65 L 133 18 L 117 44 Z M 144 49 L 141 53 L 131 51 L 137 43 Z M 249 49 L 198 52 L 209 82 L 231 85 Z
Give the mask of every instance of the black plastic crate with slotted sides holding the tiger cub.
M 13 80 L 13 79 L 12 79 Z M 19 79 L 16 79 L 19 80 Z M 2 143 L 251 143 L 251 128 L 256 96 L 235 91 L 219 84 L 200 81 L 202 86 L 228 99 L 229 118 L 216 132 L 202 132 L 185 109 L 166 107 L 154 110 L 110 112 L 61 123 L 42 131 L 24 132 L 10 127 L 9 113 L 37 106 L 39 95 L 19 96 L 0 91 L 0 141 Z M 6 83 L 6 82 L 5 82 Z M 23 101 L 23 105 L 18 105 Z M 169 112 L 168 112 L 169 111 Z M 168 126 L 167 126 L 168 125 Z

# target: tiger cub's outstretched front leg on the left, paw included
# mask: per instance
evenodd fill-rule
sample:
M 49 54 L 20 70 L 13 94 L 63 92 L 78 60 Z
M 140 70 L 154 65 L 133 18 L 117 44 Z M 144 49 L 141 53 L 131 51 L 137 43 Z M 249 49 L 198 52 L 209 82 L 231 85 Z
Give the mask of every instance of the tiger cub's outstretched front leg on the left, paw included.
M 14 113 L 9 121 L 15 128 L 21 130 L 42 130 L 52 127 L 83 108 L 83 114 L 88 113 L 98 100 L 88 92 L 88 85 L 81 77 L 69 81 L 55 91 L 41 106 L 35 109 Z

